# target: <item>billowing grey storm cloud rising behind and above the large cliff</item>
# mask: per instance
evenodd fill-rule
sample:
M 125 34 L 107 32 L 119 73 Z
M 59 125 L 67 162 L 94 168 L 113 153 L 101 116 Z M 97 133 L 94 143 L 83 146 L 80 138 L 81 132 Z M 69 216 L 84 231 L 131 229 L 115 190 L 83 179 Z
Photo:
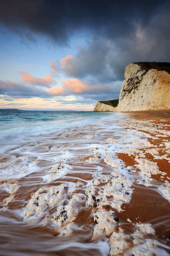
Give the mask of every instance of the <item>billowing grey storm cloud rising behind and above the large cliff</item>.
M 150 18 L 145 26 L 119 38 L 94 36 L 86 48 L 69 59 L 63 68 L 70 77 L 107 83 L 124 79 L 127 64 L 138 61 L 170 61 L 170 9 Z

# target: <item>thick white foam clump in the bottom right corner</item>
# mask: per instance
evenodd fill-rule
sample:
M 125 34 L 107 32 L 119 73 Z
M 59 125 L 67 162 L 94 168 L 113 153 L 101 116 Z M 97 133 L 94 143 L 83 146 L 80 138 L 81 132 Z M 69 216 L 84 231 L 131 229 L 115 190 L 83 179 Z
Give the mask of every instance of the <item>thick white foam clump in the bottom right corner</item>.
M 148 238 L 154 235 L 155 230 L 150 223 L 136 223 L 132 234 L 125 234 L 124 230 L 119 228 L 118 232 L 114 231 L 109 238 L 110 255 L 167 256 L 168 253 L 163 249 L 163 244 L 159 244 L 162 248 L 158 248 L 157 241 Z

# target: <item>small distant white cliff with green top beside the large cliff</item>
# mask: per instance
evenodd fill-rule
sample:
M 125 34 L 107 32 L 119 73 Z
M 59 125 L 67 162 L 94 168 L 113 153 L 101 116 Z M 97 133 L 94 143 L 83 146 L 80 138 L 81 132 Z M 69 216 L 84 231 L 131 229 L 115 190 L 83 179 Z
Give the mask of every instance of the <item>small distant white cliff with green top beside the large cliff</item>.
M 94 111 L 117 111 L 119 100 L 98 101 Z

